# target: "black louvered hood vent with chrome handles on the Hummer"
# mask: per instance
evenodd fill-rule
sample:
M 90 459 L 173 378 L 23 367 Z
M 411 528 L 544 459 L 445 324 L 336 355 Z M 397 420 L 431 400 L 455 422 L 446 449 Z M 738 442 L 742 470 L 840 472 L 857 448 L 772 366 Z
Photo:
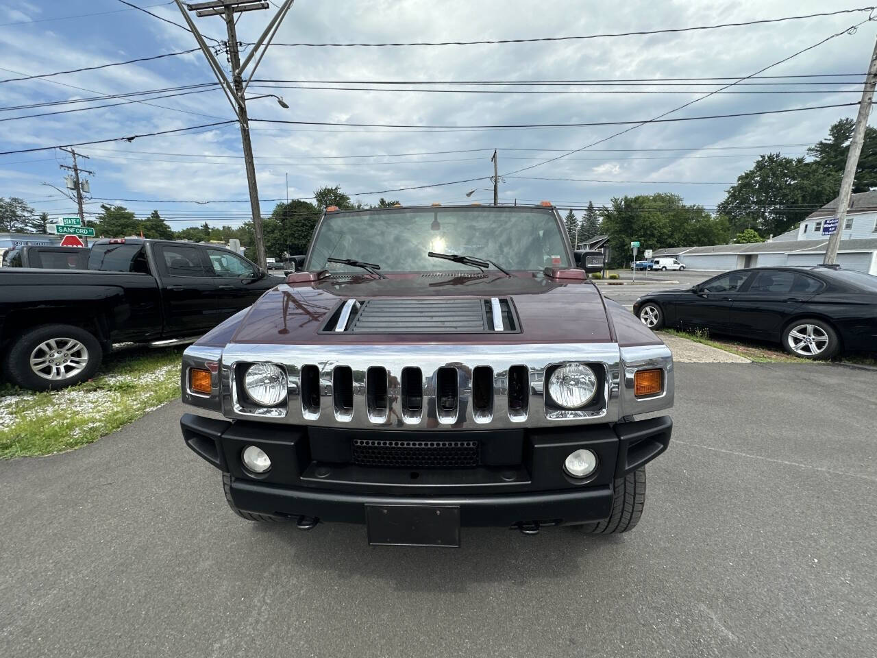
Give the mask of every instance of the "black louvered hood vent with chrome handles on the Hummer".
M 324 333 L 518 333 L 509 299 L 348 299 L 332 312 Z

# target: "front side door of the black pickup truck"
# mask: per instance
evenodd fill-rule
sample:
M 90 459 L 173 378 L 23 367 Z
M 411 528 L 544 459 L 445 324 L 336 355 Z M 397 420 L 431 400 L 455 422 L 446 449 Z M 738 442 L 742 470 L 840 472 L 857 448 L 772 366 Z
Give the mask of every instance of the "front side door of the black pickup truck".
M 262 293 L 274 288 L 282 279 L 261 275 L 259 268 L 228 249 L 203 247 L 210 263 L 210 274 L 217 295 L 217 322 L 246 309 Z

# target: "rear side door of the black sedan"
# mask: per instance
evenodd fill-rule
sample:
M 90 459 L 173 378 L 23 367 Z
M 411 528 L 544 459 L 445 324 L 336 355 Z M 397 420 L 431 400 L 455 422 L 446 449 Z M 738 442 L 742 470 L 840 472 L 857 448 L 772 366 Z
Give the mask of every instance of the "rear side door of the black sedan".
M 783 269 L 760 269 L 731 305 L 730 331 L 777 340 L 782 325 L 802 304 L 823 290 L 812 276 Z

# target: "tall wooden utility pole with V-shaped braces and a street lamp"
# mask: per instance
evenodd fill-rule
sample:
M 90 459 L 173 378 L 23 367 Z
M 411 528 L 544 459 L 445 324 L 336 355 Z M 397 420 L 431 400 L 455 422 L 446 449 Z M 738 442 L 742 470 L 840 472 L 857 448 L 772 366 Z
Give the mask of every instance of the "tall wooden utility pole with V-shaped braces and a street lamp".
M 246 55 L 243 62 L 240 61 L 238 34 L 234 25 L 234 15 L 244 11 L 268 9 L 268 4 L 265 0 L 212 0 L 211 2 L 189 3 L 186 4 L 185 8 L 182 6 L 182 0 L 175 0 L 175 3 L 180 9 L 182 17 L 185 18 L 186 23 L 189 25 L 189 30 L 191 30 L 192 34 L 195 36 L 195 40 L 201 48 L 204 57 L 207 59 L 207 63 L 210 65 L 213 74 L 217 76 L 217 80 L 225 92 L 225 97 L 228 99 L 229 103 L 232 104 L 232 110 L 234 110 L 234 113 L 238 118 L 238 123 L 240 125 L 240 139 L 244 147 L 244 164 L 246 167 L 246 183 L 250 192 L 250 208 L 253 211 L 253 233 L 255 234 L 256 241 L 256 262 L 259 264 L 260 268 L 267 268 L 267 261 L 265 259 L 265 238 L 262 232 L 262 215 L 259 207 L 259 189 L 256 185 L 256 167 L 253 163 L 253 144 L 250 141 L 250 123 L 246 114 L 246 97 L 244 96 L 244 92 L 250 82 L 253 81 L 253 75 L 255 74 L 256 68 L 259 67 L 259 63 L 262 61 L 262 57 L 265 55 L 267 47 L 270 46 L 272 39 L 275 38 L 277 29 L 280 27 L 283 18 L 286 17 L 289 8 L 292 6 L 293 0 L 282 0 L 281 7 L 275 14 L 275 17 L 268 21 L 265 31 L 262 32 L 262 35 L 255 42 L 253 49 Z M 226 43 L 226 46 L 228 48 L 229 63 L 232 67 L 231 81 L 228 79 L 228 76 L 225 75 L 225 70 L 217 61 L 216 55 L 210 50 L 210 46 L 207 46 L 201 32 L 198 32 L 195 22 L 186 11 L 187 9 L 189 11 L 195 11 L 196 16 L 199 18 L 205 16 L 222 16 L 225 18 L 225 31 L 228 34 L 228 42 Z M 251 62 L 253 62 L 253 68 L 248 72 L 245 81 L 244 71 Z M 266 94 L 265 96 L 274 95 Z M 280 103 L 282 107 L 289 108 L 289 105 L 283 102 L 282 98 L 275 98 L 277 98 L 278 103 Z

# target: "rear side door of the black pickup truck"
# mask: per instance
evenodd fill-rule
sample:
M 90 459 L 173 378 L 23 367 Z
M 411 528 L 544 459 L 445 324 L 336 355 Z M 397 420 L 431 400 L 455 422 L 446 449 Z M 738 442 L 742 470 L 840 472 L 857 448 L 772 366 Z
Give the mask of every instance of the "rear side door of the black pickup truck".
M 200 247 L 154 247 L 168 337 L 196 336 L 217 325 L 216 290 Z

